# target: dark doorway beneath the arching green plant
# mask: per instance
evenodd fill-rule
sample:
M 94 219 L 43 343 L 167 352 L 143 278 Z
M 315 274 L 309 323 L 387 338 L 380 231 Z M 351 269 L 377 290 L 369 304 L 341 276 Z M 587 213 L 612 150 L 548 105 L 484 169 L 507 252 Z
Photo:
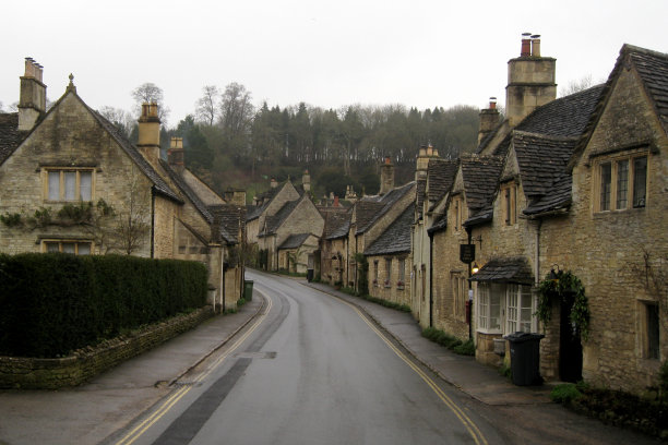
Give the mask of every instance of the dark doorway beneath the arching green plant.
M 575 293 L 561 296 L 561 318 L 559 329 L 559 376 L 562 382 L 582 380 L 582 342 L 580 329 L 571 323 L 571 309 Z

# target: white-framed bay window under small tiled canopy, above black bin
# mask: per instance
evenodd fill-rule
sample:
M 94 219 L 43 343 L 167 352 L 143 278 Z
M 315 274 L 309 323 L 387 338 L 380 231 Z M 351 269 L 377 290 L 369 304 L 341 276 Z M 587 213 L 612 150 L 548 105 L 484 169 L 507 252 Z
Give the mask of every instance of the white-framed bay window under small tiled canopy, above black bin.
M 536 299 L 529 286 L 478 284 L 478 330 L 493 334 L 535 332 Z

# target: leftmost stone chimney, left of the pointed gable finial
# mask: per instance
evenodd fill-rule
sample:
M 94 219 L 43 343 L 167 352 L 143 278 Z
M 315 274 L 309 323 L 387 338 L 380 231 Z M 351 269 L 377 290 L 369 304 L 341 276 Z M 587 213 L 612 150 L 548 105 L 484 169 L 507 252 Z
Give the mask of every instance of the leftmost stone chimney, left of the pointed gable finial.
M 46 112 L 46 85 L 41 82 L 44 67 L 25 58 L 25 73 L 19 94 L 19 131 L 29 131 Z

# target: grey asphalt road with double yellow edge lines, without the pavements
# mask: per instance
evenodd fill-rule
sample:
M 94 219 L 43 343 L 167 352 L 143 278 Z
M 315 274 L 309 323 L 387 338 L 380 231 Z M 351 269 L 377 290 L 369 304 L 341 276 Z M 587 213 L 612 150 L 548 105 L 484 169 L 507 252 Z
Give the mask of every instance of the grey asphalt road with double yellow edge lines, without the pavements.
M 248 278 L 264 313 L 109 443 L 503 443 L 469 398 L 350 304 L 288 278 Z

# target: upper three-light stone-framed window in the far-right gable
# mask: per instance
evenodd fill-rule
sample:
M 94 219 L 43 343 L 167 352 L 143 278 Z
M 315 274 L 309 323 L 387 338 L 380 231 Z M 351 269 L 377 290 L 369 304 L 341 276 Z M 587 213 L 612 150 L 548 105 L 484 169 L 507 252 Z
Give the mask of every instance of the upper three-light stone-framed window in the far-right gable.
M 596 212 L 624 211 L 645 206 L 647 156 L 606 159 L 597 168 Z

